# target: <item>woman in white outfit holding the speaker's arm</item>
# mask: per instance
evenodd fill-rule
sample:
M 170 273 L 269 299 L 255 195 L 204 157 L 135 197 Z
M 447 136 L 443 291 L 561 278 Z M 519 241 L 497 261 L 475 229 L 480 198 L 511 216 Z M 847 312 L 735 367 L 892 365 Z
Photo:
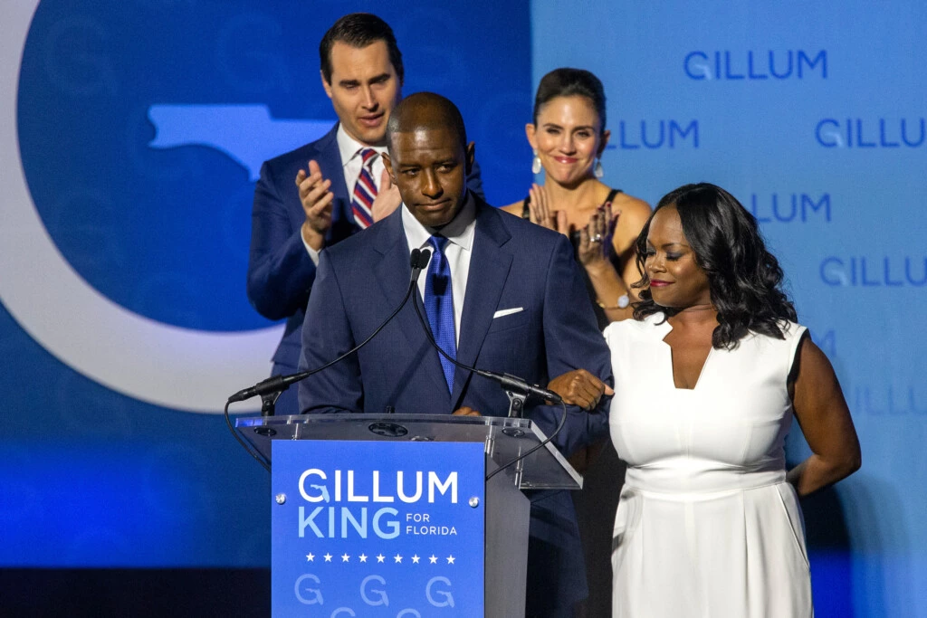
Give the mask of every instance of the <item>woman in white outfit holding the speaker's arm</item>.
M 611 434 L 628 462 L 612 615 L 812 616 L 798 498 L 860 464 L 831 363 L 795 323 L 756 219 L 723 189 L 666 195 L 637 250 L 635 320 L 605 330 Z M 570 397 L 604 390 L 564 377 Z M 793 416 L 812 455 L 786 472 Z

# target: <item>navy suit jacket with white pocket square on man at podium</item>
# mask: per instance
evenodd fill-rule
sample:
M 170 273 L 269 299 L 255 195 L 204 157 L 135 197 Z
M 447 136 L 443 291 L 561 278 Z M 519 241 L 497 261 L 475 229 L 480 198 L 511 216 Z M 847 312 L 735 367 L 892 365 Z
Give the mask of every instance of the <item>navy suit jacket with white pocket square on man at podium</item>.
M 458 360 L 540 385 L 580 367 L 611 382 L 608 348 L 586 301 L 573 247 L 563 234 L 477 200 L 472 251 Z M 326 248 L 303 325 L 300 369 L 320 367 L 373 333 L 399 306 L 410 276 L 399 210 L 363 234 Z M 496 311 L 517 308 L 522 310 L 493 317 Z M 400 413 L 450 414 L 461 406 L 483 414 L 508 411 L 499 385 L 462 369 L 448 393 L 438 352 L 411 306 L 357 355 L 301 382 L 299 404 L 303 412 L 382 413 L 387 406 Z M 570 410 L 554 439 L 557 448 L 569 455 L 605 435 L 606 405 L 591 414 Z M 550 435 L 561 410 L 535 406 L 527 416 Z M 533 601 L 541 604 L 537 610 L 586 596 L 576 514 L 568 495 L 546 492 L 532 502 L 529 613 Z

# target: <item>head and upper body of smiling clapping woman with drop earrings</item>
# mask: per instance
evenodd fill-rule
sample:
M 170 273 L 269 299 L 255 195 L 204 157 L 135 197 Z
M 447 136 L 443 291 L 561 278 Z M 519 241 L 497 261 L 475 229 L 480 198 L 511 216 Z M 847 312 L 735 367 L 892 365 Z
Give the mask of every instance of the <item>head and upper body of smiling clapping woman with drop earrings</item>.
M 650 207 L 601 180 L 610 134 L 602 82 L 588 70 L 552 70 L 540 81 L 533 120 L 525 132 L 544 183 L 503 209 L 569 236 L 600 326 L 625 320 L 637 300 L 630 284 L 641 278 L 634 240 Z

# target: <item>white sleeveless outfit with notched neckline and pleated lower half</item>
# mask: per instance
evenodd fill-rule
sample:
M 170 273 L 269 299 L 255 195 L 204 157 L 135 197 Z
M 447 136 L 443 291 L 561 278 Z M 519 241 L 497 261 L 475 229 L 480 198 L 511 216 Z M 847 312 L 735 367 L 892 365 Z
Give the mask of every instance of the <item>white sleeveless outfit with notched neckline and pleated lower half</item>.
M 805 529 L 785 482 L 786 380 L 804 326 L 712 349 L 692 390 L 673 385 L 662 313 L 605 329 L 611 435 L 628 475 L 613 540 L 613 616 L 814 615 Z M 659 323 L 663 322 L 663 323 Z

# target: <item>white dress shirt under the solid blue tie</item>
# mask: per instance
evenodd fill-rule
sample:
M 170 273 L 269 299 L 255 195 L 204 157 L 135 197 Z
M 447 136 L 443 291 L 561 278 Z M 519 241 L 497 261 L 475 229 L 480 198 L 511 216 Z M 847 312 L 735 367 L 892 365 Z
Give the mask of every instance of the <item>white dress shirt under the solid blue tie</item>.
M 460 345 L 461 336 L 461 317 L 464 315 L 464 296 L 466 295 L 466 282 L 470 274 L 470 257 L 473 255 L 473 238 L 476 231 L 476 200 L 468 191 L 464 208 L 461 208 L 453 221 L 445 225 L 440 231 L 426 228 L 415 219 L 409 208 L 402 208 L 402 229 L 406 234 L 406 241 L 409 243 L 409 253 L 413 249 L 428 249 L 431 251 L 431 258 L 435 257 L 435 248 L 431 246 L 428 239 L 432 234 L 440 233 L 448 239 L 448 244 L 444 246 L 444 255 L 448 259 L 448 266 L 451 269 L 451 290 L 454 300 L 454 341 Z M 429 260 L 428 264 L 431 264 Z M 428 276 L 428 269 L 422 271 L 418 278 L 418 292 L 421 298 L 425 298 L 425 278 Z

